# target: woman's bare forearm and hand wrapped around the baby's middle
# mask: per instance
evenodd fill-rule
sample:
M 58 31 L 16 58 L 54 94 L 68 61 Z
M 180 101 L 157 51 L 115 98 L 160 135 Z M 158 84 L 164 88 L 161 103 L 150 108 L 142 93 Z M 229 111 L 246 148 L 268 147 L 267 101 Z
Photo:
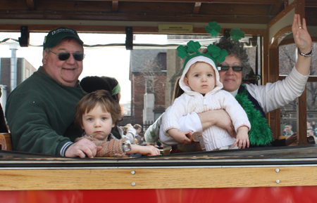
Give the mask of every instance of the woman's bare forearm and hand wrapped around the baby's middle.
M 232 125 L 231 118 L 225 110 L 209 110 L 198 114 L 203 130 L 216 125 L 220 128 L 226 129 L 232 138 L 237 136 Z

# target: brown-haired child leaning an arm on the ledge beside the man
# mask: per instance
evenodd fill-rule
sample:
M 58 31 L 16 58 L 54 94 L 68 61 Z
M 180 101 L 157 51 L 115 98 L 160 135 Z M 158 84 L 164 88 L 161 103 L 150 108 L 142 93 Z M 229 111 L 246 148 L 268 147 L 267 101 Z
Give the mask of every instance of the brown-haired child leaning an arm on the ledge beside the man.
M 153 146 L 131 145 L 127 138 L 115 138 L 111 129 L 118 125 L 121 117 L 120 105 L 111 98 L 108 91 L 99 90 L 87 94 L 76 106 L 75 122 L 85 132 L 77 140 L 87 138 L 101 146 L 97 157 L 129 157 L 134 153 L 159 155 L 159 150 Z

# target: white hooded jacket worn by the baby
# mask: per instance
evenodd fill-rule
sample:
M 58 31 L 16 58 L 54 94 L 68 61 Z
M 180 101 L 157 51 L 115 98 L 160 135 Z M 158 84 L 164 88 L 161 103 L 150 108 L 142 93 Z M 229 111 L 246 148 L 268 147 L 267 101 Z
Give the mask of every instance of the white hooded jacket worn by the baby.
M 192 89 L 190 89 L 190 87 L 184 82 L 184 77 L 188 72 L 189 67 L 197 62 L 208 63 L 213 67 L 216 74 L 216 86 L 212 91 L 206 93 L 205 96 L 201 93 L 192 91 Z M 221 90 L 223 88 L 223 84 L 220 82 L 219 78 L 216 65 L 210 58 L 200 55 L 187 62 L 182 72 L 182 77 L 180 78 L 180 88 L 185 91 L 185 93 L 176 98 L 173 105 L 168 107 L 166 112 L 163 114 L 161 128 L 163 129 L 164 136 L 168 136 L 167 131 L 169 129 L 180 129 L 178 121 L 182 116 L 190 114 L 191 112 L 201 113 L 208 110 L 220 109 L 228 112 L 231 117 L 232 124 L 235 127 L 235 131 L 237 131 L 240 126 L 247 126 L 251 129 L 247 114 L 244 112 L 241 105 L 237 103 L 237 100 L 235 100 L 230 93 Z M 232 138 L 228 131 L 221 129 L 218 126 L 211 126 L 209 129 L 206 129 L 203 132 L 203 137 L 207 151 L 232 145 L 235 141 L 235 138 Z M 165 139 L 160 136 L 160 140 L 163 142 Z

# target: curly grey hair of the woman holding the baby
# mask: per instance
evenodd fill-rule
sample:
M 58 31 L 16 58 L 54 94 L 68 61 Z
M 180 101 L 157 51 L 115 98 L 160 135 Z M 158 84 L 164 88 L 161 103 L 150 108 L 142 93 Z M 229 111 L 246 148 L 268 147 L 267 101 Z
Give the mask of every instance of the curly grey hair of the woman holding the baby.
M 249 56 L 247 55 L 247 51 L 244 48 L 244 44 L 232 39 L 232 37 L 221 37 L 220 41 L 218 41 L 218 43 L 215 45 L 220 49 L 225 49 L 228 51 L 228 55 L 234 55 L 240 59 L 241 65 L 243 66 L 242 79 L 245 79 L 251 70 L 251 66 L 248 63 Z

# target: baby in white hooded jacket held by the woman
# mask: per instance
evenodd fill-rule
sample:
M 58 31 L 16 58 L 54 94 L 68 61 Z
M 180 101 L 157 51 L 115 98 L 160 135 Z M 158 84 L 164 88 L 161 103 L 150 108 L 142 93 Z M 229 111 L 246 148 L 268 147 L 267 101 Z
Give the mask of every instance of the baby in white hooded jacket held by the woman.
M 164 140 L 170 136 L 178 143 L 189 144 L 190 140 L 186 136 L 189 131 L 179 130 L 180 117 L 191 112 L 224 109 L 232 119 L 232 128 L 234 127 L 237 131 L 237 138 L 232 138 L 225 129 L 211 126 L 203 132 L 206 150 L 232 149 L 237 144 L 239 148 L 249 147 L 248 131 L 251 126 L 247 114 L 230 93 L 221 90 L 223 84 L 219 81 L 218 70 L 213 59 L 208 55 L 199 54 L 198 51 L 197 53 L 185 61 L 179 82 L 180 89 L 185 93 L 176 98 L 173 105 L 168 107 L 163 114 L 161 128 L 164 136 L 160 136 L 160 140 L 164 143 Z

